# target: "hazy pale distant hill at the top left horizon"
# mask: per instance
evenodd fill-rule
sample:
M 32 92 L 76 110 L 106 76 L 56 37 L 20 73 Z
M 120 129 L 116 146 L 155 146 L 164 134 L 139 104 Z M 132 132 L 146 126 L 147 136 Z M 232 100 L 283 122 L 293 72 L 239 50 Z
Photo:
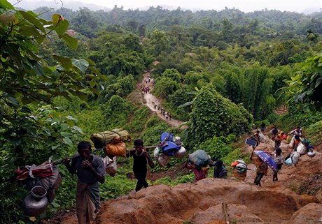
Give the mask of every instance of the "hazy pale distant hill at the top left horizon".
M 11 4 L 17 3 L 16 0 L 8 0 Z M 32 1 L 32 0 L 24 0 L 20 1 L 20 3 L 17 3 L 14 5 L 16 8 L 24 8 L 25 10 L 34 10 L 39 7 L 47 6 L 48 8 L 70 8 L 71 10 L 78 10 L 79 8 L 88 8 L 92 11 L 96 10 L 105 10 L 109 11 L 111 8 L 106 8 L 103 6 L 97 6 L 93 3 L 84 3 L 81 1 L 68 1 L 63 3 L 61 1 Z

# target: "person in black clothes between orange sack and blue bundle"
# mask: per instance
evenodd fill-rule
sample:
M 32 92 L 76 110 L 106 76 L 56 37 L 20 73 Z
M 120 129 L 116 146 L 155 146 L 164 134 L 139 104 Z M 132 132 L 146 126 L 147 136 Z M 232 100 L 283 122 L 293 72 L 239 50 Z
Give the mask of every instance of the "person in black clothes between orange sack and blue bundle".
M 148 182 L 146 182 L 146 172 L 147 172 L 147 164 L 150 165 L 151 168 L 155 167 L 151 156 L 148 154 L 148 151 L 144 149 L 142 140 L 134 141 L 134 151 L 130 151 L 130 154 L 127 154 L 127 157 L 133 156 L 133 172 L 135 177 L 137 178 L 137 186 L 135 191 L 140 191 L 141 188 L 147 188 Z

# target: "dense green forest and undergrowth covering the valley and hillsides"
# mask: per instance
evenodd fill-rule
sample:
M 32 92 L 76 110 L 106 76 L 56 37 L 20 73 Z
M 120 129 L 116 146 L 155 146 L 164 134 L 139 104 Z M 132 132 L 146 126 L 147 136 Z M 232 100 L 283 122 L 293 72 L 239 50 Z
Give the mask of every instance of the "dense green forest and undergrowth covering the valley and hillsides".
M 286 131 L 302 126 L 311 144 L 321 144 L 321 35 L 321 12 L 160 6 L 25 11 L 1 0 L 0 223 L 40 223 L 73 208 L 77 178 L 63 165 L 55 200 L 35 219 L 23 214 L 28 191 L 11 177 L 17 167 L 72 156 L 80 140 L 104 130 L 123 128 L 147 146 L 171 132 L 181 136 L 188 152 L 204 149 L 225 163 L 248 157 L 236 142 L 262 123 Z M 172 128 L 135 99 L 148 69 L 155 79 L 153 95 L 188 128 Z M 281 106 L 288 112 L 275 114 Z M 172 158 L 152 172 L 182 163 Z M 132 191 L 131 173 L 132 160 L 118 159 L 116 176 L 106 176 L 100 186 L 102 200 Z M 155 184 L 193 178 L 182 174 Z

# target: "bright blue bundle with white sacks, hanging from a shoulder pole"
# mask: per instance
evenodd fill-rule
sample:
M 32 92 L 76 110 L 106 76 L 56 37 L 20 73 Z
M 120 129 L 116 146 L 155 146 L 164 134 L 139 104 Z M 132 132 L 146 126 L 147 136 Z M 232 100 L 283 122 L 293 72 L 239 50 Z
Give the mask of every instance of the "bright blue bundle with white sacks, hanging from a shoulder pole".
M 183 147 L 181 138 L 171 133 L 162 133 L 160 136 L 160 143 L 154 150 L 155 160 L 160 163 L 162 167 L 169 163 L 171 156 L 176 158 L 183 158 L 186 154 L 186 149 Z

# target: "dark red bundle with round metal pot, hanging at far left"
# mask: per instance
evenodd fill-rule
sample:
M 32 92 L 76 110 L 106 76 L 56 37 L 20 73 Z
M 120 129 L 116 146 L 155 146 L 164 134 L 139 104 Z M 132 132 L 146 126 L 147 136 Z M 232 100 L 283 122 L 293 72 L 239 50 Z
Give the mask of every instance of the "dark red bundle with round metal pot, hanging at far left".
M 41 165 L 18 167 L 15 170 L 15 179 L 21 181 L 27 190 L 31 191 L 22 203 L 22 210 L 27 216 L 38 216 L 45 211 L 48 204 L 55 199 L 57 188 L 62 184 L 58 167 L 52 164 L 52 156 Z M 41 197 L 31 197 L 35 196 L 36 189 L 42 189 Z

